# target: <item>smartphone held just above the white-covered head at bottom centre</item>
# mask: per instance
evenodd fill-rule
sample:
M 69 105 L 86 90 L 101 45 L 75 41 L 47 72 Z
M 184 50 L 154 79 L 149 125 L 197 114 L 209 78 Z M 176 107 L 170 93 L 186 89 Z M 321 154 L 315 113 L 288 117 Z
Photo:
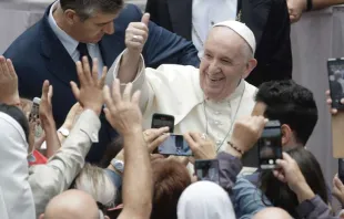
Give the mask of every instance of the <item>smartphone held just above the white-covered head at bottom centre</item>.
M 215 184 L 220 184 L 217 159 L 195 160 L 194 173 L 199 181 L 208 180 L 208 181 L 213 181 Z

